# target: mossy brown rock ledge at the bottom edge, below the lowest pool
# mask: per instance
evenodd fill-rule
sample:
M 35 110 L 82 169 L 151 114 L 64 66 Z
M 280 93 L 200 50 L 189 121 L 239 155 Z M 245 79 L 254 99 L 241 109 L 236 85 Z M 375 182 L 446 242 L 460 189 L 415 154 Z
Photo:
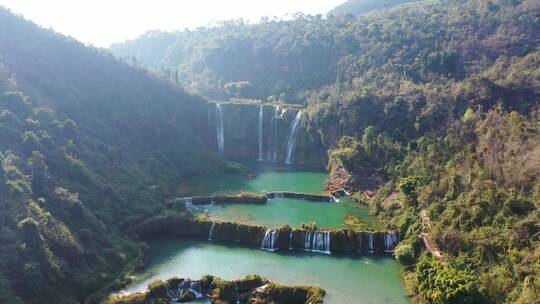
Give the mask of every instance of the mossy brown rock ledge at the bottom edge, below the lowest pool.
M 322 304 L 325 292 L 311 286 L 284 286 L 267 279 L 248 275 L 243 279 L 227 281 L 214 276 L 199 280 L 171 278 L 155 281 L 145 292 L 113 295 L 106 304 L 158 304 L 189 303 L 197 298 L 210 298 L 212 303 L 290 303 Z

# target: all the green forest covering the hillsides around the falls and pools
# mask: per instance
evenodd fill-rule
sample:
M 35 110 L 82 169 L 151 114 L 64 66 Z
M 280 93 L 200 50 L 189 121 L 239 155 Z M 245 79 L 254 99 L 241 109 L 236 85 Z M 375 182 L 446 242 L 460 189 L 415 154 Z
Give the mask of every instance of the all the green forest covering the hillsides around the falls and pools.
M 130 228 L 246 170 L 209 144 L 213 100 L 303 109 L 297 154 L 399 233 L 412 303 L 540 303 L 540 2 L 375 2 L 109 50 L 0 8 L 0 303 L 129 283 Z

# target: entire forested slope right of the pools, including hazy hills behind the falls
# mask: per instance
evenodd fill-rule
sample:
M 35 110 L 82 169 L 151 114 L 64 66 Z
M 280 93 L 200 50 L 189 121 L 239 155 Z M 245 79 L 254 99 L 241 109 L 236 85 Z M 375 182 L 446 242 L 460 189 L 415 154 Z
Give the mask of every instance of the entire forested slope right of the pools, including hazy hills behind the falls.
M 540 2 L 230 22 L 112 51 L 212 98 L 307 105 L 330 181 L 377 190 L 356 199 L 404 237 L 414 301 L 538 303 Z

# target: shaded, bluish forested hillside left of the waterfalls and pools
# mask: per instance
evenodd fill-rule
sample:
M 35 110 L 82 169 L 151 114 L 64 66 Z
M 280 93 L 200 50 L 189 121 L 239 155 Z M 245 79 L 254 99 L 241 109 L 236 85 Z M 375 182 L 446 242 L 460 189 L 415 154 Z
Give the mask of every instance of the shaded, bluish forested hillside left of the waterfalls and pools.
M 80 303 L 141 253 L 125 234 L 225 169 L 206 102 L 0 8 L 0 302 Z

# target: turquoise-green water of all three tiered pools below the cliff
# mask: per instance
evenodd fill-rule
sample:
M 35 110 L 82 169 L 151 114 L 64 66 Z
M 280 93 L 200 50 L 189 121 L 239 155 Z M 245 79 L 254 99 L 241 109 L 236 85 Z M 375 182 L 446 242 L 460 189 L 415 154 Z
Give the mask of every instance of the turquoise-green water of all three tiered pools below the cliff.
M 190 183 L 191 195 L 233 191 L 324 191 L 327 175 L 306 170 L 257 165 L 253 175 L 222 174 Z M 184 187 L 185 189 L 186 187 Z M 365 208 L 344 199 L 337 204 L 273 199 L 266 205 L 227 204 L 201 208 L 212 218 L 279 226 L 315 221 L 319 227 L 345 227 L 343 217 L 353 215 L 369 226 L 376 222 Z M 318 285 L 327 292 L 325 303 L 409 303 L 400 279 L 400 266 L 390 255 L 323 255 L 305 252 L 267 252 L 205 241 L 155 239 L 149 242 L 144 271 L 124 291 L 146 289 L 156 279 L 173 276 L 200 278 L 212 274 L 238 279 L 259 274 L 276 283 Z M 209 303 L 205 300 L 197 303 Z

